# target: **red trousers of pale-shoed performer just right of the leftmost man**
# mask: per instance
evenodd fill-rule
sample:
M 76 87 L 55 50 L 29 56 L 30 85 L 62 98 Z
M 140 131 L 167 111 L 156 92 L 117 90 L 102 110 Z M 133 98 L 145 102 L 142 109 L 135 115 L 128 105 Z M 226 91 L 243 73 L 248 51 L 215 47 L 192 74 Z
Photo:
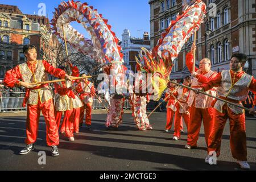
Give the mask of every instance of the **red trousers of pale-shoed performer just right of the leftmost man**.
M 74 112 L 73 109 L 64 111 L 63 123 L 61 125 L 61 133 L 65 132 L 66 137 L 74 137 Z

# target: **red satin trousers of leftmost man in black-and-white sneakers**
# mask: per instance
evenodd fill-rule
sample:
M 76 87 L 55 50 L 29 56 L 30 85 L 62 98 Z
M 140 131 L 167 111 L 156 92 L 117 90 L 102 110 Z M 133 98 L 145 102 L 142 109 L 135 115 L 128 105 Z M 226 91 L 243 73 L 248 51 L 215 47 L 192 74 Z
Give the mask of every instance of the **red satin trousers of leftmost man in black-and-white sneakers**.
M 46 143 L 48 146 L 57 146 L 59 144 L 59 133 L 55 121 L 52 99 L 44 103 L 41 103 L 38 99 L 38 105 L 27 105 L 27 138 L 25 143 L 35 143 L 36 138 L 38 137 L 38 125 L 41 110 L 44 115 L 44 120 L 46 121 Z

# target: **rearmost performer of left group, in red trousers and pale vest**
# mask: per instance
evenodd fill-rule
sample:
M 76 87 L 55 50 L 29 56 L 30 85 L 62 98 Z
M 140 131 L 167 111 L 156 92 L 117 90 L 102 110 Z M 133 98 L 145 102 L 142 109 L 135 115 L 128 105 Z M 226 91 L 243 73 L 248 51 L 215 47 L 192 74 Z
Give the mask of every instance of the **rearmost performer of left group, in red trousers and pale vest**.
M 82 74 L 81 76 L 86 76 L 86 74 Z M 93 106 L 93 98 L 95 95 L 95 89 L 94 89 L 93 83 L 90 82 L 88 78 L 82 79 L 82 81 L 80 82 L 80 86 L 82 88 L 80 99 L 84 103 L 84 106 L 81 107 L 79 126 L 81 127 L 84 121 L 84 110 L 85 110 L 85 124 L 87 128 L 90 129 L 92 125 L 92 106 Z

